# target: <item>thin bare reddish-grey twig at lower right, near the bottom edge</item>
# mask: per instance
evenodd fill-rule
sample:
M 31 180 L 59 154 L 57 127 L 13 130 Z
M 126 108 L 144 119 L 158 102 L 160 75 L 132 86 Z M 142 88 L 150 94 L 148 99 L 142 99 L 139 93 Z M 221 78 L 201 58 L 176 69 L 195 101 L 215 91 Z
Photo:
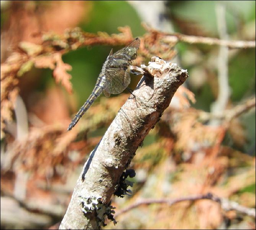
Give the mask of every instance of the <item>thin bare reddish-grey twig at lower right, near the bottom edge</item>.
M 131 209 L 137 208 L 142 205 L 150 205 L 150 204 L 168 204 L 169 206 L 176 204 L 178 202 L 182 201 L 197 201 L 200 199 L 208 199 L 212 200 L 215 202 L 218 202 L 222 209 L 225 211 L 230 211 L 230 210 L 236 210 L 238 212 L 241 212 L 243 214 L 255 217 L 255 209 L 253 208 L 248 208 L 239 205 L 236 202 L 229 201 L 228 199 L 223 199 L 223 198 L 218 198 L 217 196 L 214 196 L 212 193 L 207 193 L 207 194 L 202 194 L 202 195 L 194 195 L 194 196 L 185 196 L 181 198 L 176 198 L 176 199 L 169 199 L 169 198 L 162 198 L 162 199 L 143 199 L 141 201 L 137 201 L 134 204 L 131 204 L 130 206 L 121 209 L 119 212 L 116 212 L 115 218 L 118 217 L 121 214 L 124 214 Z

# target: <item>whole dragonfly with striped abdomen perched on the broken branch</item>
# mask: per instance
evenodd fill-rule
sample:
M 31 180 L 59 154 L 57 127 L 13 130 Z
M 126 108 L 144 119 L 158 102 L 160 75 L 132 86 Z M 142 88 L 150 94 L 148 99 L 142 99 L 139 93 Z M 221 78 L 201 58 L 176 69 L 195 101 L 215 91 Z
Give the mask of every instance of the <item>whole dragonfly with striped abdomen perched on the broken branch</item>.
M 129 45 L 114 54 L 113 49 L 111 49 L 102 66 L 93 92 L 71 121 L 68 131 L 77 124 L 102 92 L 106 97 L 110 97 L 110 94 L 119 94 L 127 88 L 130 84 L 130 65 L 137 57 L 139 46 L 140 39 L 136 37 Z

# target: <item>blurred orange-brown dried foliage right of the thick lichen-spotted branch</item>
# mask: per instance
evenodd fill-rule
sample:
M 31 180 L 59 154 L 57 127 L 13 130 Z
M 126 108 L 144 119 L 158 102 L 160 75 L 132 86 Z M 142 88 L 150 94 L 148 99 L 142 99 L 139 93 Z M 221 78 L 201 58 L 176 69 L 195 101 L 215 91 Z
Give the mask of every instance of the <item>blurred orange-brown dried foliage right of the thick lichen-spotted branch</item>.
M 159 127 L 155 127 L 159 130 L 158 141 L 142 147 L 135 155 L 132 165 L 138 174 L 135 195 L 121 207 L 125 209 L 139 202 L 148 197 L 148 193 L 160 201 L 161 198 L 175 200 L 209 192 L 221 198 L 236 197 L 239 204 L 247 207 L 249 199 L 249 207 L 255 207 L 254 194 L 247 193 L 248 199 L 238 196 L 238 191 L 255 183 L 255 157 L 221 146 L 226 131 L 221 127 L 202 125 L 198 115 L 194 109 L 181 112 L 170 108 L 165 111 Z M 149 216 L 145 218 L 143 215 Z M 141 221 L 143 218 L 147 221 Z M 118 216 L 117 220 L 121 228 L 126 227 L 127 220 L 133 219 L 134 226 L 142 229 L 148 229 L 152 224 L 159 229 L 188 228 L 188 223 L 191 229 L 215 229 L 223 221 L 233 222 L 236 218 L 236 214 L 224 214 L 219 204 L 212 201 L 188 199 L 172 206 L 152 202 L 150 207 L 136 207 Z

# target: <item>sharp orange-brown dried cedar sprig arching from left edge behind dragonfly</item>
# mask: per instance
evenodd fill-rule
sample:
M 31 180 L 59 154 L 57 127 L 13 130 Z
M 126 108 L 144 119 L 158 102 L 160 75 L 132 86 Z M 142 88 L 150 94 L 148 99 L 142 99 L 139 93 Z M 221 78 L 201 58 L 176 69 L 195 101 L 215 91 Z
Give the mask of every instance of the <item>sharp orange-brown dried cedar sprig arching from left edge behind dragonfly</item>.
M 111 36 L 105 32 L 98 32 L 98 34 L 83 32 L 80 28 L 67 29 L 62 36 L 53 33 L 44 34 L 41 45 L 20 42 L 19 47 L 23 52 L 13 53 L 1 64 L 1 139 L 4 137 L 5 121 L 12 120 L 11 110 L 14 108 L 15 95 L 18 91 L 15 86 L 24 73 L 31 70 L 33 66 L 36 68 L 50 68 L 53 70 L 56 83 L 61 83 L 67 92 L 71 93 L 71 75 L 67 71 L 70 71 L 72 67 L 64 63 L 61 56 L 70 50 L 83 46 L 96 44 L 123 45 L 133 39 L 129 27 L 118 29 L 121 33 L 112 34 Z M 139 57 L 134 65 L 142 63 L 145 58 L 150 58 L 152 55 L 161 56 L 165 59 L 174 57 L 175 52 L 172 47 L 175 43 L 171 46 L 170 44 L 163 44 L 161 37 L 163 35 L 155 31 L 143 36 Z M 2 103 L 5 106 L 2 106 Z

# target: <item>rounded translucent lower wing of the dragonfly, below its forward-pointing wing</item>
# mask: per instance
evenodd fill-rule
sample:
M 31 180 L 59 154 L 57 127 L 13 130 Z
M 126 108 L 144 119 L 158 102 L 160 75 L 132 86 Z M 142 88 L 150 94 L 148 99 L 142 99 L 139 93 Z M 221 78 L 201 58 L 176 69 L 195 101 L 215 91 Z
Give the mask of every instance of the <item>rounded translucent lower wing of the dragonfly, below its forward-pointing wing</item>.
M 130 84 L 130 75 L 124 68 L 108 68 L 105 71 L 105 91 L 110 94 L 120 94 Z

